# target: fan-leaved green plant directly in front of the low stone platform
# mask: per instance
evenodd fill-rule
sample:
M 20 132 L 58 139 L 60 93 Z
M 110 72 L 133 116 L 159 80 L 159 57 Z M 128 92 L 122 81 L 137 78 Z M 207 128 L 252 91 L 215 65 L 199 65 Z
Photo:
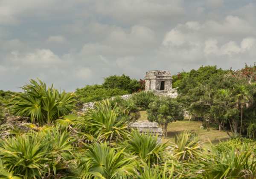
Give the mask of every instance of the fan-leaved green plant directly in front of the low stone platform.
M 125 144 L 129 153 L 152 165 L 161 163 L 166 154 L 167 144 L 161 143 L 157 140 L 157 136 L 150 133 L 140 134 L 139 131 L 133 130 Z

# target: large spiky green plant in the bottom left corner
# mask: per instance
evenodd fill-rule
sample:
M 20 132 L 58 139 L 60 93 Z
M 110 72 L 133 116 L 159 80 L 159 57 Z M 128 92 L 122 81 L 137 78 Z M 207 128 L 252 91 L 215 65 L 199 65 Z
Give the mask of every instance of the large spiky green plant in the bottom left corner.
M 41 178 L 50 170 L 49 148 L 38 135 L 16 136 L 1 142 L 0 158 L 7 170 L 25 179 Z

